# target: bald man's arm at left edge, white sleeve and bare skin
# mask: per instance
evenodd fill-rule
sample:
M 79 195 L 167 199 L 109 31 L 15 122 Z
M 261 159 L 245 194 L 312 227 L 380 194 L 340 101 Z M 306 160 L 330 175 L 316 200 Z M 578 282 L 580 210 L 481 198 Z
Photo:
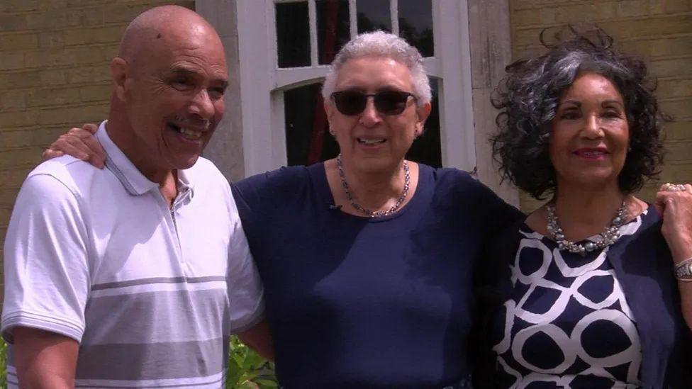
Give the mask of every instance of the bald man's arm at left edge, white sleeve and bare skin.
M 86 226 L 72 191 L 31 174 L 4 247 L 2 335 L 21 388 L 73 388 L 89 291 Z

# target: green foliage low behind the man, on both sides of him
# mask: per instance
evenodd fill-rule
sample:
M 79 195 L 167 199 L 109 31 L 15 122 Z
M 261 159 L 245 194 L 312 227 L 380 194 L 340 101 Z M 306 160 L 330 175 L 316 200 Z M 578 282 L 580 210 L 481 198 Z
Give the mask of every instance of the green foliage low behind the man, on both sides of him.
M 0 340 L 0 388 L 7 388 L 7 345 Z M 277 388 L 274 378 L 274 363 L 265 361 L 255 351 L 240 343 L 237 337 L 230 339 L 228 356 L 228 389 L 272 389 Z

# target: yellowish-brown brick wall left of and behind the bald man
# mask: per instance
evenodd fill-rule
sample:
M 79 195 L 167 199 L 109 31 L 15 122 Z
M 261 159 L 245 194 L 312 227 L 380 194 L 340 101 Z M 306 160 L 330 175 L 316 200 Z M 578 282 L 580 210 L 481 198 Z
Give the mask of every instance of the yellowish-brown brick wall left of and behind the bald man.
M 194 9 L 193 0 L 0 1 L 0 247 L 41 151 L 67 128 L 106 116 L 121 34 L 162 4 Z

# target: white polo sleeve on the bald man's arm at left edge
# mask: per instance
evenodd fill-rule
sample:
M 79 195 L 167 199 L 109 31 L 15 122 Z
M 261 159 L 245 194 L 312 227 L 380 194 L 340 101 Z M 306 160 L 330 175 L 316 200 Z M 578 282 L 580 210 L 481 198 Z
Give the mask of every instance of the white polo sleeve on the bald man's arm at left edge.
M 4 247 L 2 336 L 16 326 L 80 342 L 89 293 L 89 239 L 77 196 L 48 174 L 22 185 Z

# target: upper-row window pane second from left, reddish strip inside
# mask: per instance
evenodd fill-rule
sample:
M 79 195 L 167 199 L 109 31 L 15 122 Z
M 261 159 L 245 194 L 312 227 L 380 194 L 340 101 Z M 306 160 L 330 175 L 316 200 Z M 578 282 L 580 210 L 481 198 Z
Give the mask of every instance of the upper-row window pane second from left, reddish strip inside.
M 330 64 L 351 38 L 348 0 L 317 0 L 316 6 L 320 64 Z

